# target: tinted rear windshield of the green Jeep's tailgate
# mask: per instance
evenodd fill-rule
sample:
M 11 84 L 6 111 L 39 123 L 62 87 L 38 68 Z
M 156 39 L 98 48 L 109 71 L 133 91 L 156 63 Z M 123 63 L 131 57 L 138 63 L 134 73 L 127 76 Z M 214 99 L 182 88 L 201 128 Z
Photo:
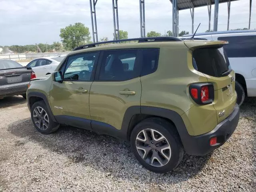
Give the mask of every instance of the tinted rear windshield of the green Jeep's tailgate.
M 193 66 L 204 74 L 221 77 L 229 74 L 228 57 L 221 47 L 200 48 L 193 51 Z

